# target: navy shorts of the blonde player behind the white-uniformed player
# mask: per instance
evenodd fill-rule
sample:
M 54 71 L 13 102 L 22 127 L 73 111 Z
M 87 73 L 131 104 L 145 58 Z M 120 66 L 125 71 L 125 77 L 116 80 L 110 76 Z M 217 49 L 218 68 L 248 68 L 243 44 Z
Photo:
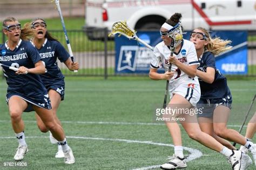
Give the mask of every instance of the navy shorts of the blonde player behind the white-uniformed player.
M 225 107 L 232 108 L 232 95 L 229 93 L 224 98 L 200 98 L 197 108 L 201 109 L 202 114 L 198 114 L 198 117 L 207 117 L 212 118 L 213 117 L 213 111 L 215 108 L 217 108 L 219 105 L 224 105 Z

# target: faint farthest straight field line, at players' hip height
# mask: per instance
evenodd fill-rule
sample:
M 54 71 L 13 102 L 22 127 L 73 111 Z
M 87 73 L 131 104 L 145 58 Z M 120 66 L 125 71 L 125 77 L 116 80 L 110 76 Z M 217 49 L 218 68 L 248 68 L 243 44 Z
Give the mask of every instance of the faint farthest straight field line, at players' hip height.
M 6 88 L 0 88 L 1 91 L 6 91 Z M 70 92 L 163 92 L 161 88 L 66 88 L 65 91 Z M 234 92 L 252 91 L 252 89 L 232 89 Z M 256 91 L 255 91 L 256 93 Z

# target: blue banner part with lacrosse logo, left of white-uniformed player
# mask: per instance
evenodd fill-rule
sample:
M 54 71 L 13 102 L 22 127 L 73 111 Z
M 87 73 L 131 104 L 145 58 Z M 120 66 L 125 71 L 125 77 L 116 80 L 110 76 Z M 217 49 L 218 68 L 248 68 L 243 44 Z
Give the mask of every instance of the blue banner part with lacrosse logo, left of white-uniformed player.
M 138 32 L 137 36 L 152 47 L 156 46 L 161 38 L 159 32 Z M 148 74 L 153 52 L 136 40 L 129 40 L 124 36 L 115 37 L 116 68 L 115 73 Z M 159 69 L 164 72 L 163 69 Z

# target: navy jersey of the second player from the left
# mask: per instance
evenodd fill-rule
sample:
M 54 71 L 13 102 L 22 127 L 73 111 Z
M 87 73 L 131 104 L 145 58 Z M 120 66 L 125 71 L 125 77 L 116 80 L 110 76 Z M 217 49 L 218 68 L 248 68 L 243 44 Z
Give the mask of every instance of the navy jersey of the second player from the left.
M 32 41 L 31 43 L 35 46 Z M 43 46 L 37 50 L 47 69 L 47 73 L 40 75 L 45 86 L 48 87 L 55 82 L 63 80 L 64 75 L 58 67 L 57 58 L 60 62 L 64 62 L 69 59 L 70 55 L 60 42 L 46 38 Z

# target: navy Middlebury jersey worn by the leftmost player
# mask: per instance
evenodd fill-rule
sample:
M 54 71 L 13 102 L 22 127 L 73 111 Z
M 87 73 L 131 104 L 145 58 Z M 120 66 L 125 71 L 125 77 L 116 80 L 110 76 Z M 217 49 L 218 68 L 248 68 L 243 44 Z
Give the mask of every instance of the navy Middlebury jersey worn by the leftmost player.
M 41 60 L 36 48 L 29 41 L 19 40 L 18 45 L 11 51 L 5 43 L 0 45 L 0 62 L 7 66 L 34 68 L 35 63 Z M 47 91 L 38 74 L 16 74 L 14 70 L 4 69 L 4 76 L 8 84 L 8 93 L 21 94 L 31 99 L 39 98 Z

